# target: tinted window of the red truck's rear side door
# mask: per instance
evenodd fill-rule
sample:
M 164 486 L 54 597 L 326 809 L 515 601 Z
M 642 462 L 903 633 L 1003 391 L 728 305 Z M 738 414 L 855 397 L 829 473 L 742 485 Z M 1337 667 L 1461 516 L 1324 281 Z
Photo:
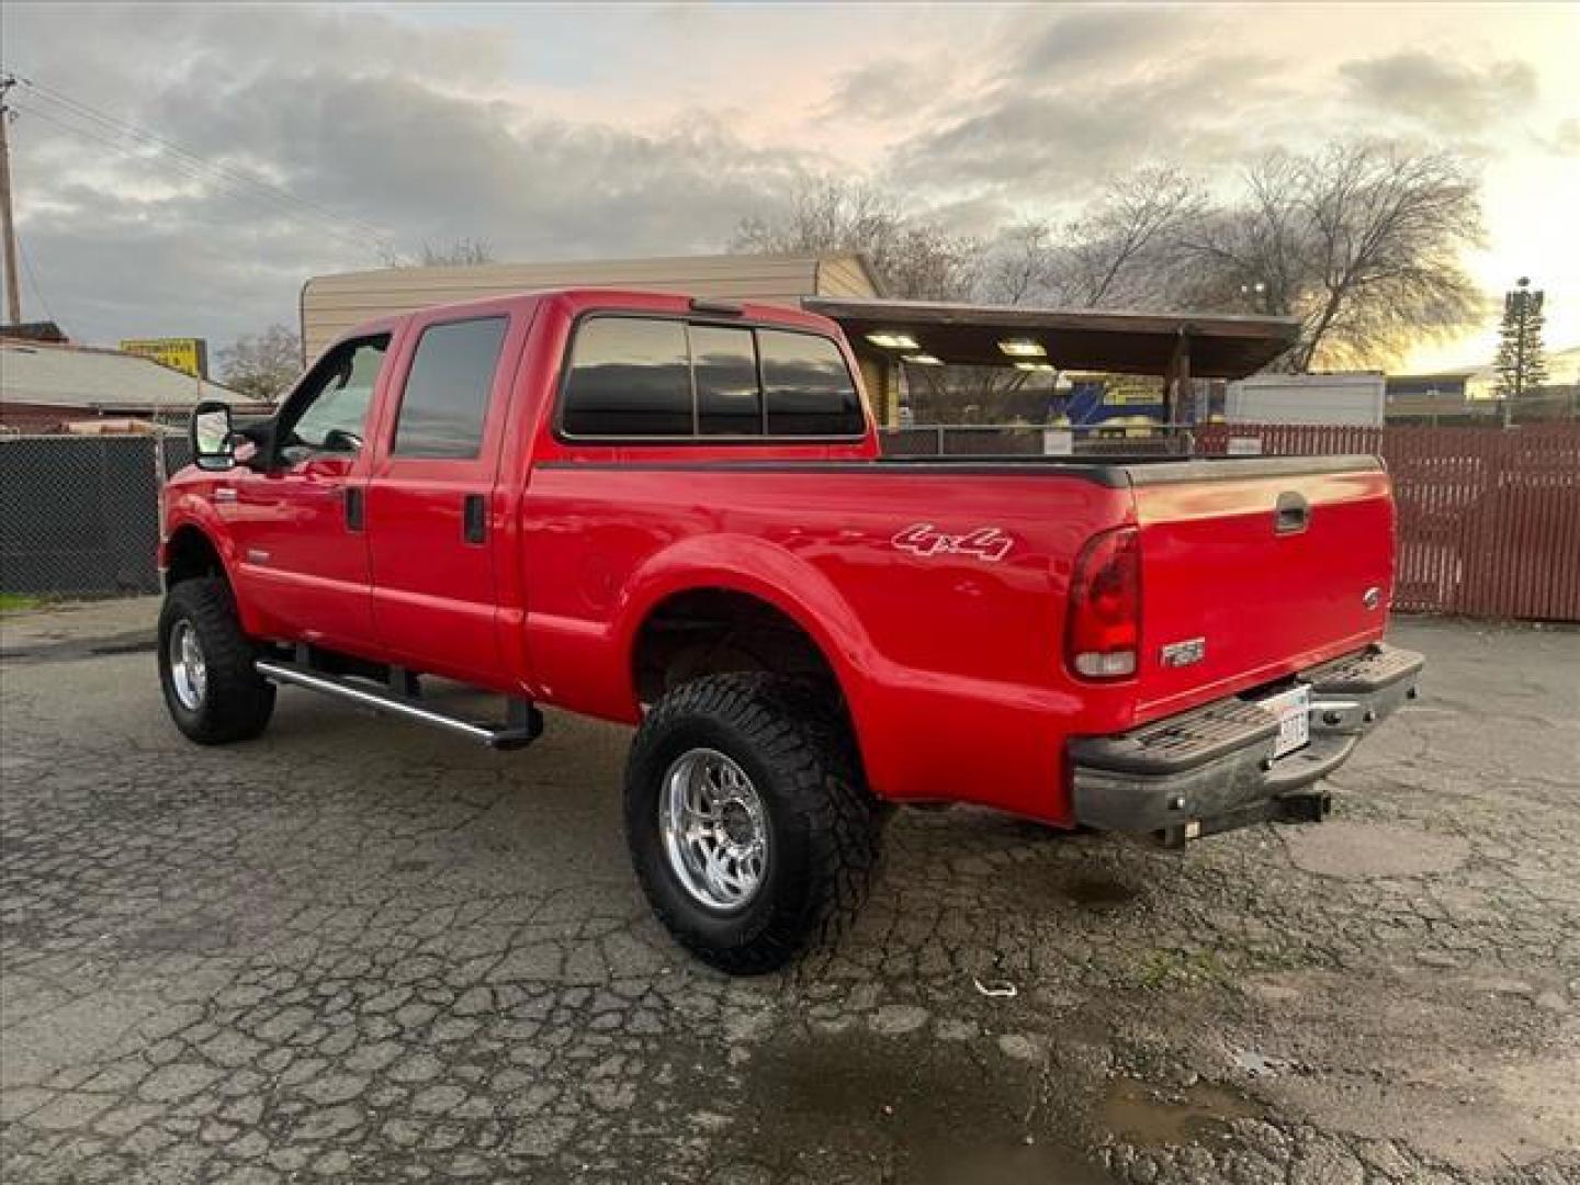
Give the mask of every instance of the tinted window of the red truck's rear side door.
M 506 325 L 485 318 L 423 330 L 401 395 L 397 457 L 477 457 Z

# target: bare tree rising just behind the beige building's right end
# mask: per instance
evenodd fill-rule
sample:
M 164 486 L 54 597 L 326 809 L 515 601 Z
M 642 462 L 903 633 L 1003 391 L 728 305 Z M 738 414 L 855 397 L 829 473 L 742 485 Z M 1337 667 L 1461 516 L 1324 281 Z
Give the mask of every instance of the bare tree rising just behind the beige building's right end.
M 905 213 L 863 182 L 834 177 L 799 185 L 782 209 L 743 218 L 732 251 L 860 251 L 891 294 L 964 300 L 976 291 L 983 245 Z

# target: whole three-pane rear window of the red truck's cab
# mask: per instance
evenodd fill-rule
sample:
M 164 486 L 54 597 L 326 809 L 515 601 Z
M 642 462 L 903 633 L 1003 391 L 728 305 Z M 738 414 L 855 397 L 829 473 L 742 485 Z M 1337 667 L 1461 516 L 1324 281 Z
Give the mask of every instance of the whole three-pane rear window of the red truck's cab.
M 630 444 L 861 439 L 866 416 L 833 338 L 596 313 L 575 327 L 559 431 Z

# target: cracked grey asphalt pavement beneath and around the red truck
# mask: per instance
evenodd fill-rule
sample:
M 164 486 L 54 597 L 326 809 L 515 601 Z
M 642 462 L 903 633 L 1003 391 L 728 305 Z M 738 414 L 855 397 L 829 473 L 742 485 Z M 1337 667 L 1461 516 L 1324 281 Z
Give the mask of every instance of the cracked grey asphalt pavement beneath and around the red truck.
M 284 690 L 199 749 L 153 611 L 3 623 L 6 1182 L 1580 1180 L 1580 632 L 1400 621 L 1321 826 L 901 812 L 844 943 L 732 981 L 637 891 L 624 730 Z

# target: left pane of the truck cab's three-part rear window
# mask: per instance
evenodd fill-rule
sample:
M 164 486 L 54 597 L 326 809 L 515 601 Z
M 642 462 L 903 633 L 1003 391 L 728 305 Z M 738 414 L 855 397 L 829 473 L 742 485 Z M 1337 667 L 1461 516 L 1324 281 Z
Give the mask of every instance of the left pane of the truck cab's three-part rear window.
M 564 430 L 572 436 L 690 436 L 686 324 L 581 322 L 566 379 Z

